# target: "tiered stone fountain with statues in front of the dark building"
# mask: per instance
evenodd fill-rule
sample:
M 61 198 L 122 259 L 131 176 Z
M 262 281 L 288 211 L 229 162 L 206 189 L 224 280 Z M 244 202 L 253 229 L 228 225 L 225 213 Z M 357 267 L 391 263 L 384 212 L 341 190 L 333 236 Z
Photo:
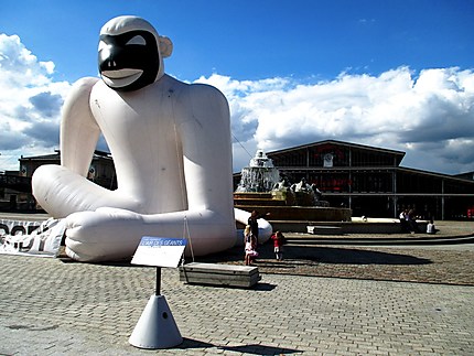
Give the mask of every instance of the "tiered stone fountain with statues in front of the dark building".
M 262 150 L 258 150 L 248 166 L 241 170 L 234 193 L 234 206 L 261 214 L 269 213 L 273 230 L 305 231 L 315 222 L 349 222 L 352 211 L 330 207 L 321 192 L 304 179 L 291 184 L 280 180 L 280 172 Z

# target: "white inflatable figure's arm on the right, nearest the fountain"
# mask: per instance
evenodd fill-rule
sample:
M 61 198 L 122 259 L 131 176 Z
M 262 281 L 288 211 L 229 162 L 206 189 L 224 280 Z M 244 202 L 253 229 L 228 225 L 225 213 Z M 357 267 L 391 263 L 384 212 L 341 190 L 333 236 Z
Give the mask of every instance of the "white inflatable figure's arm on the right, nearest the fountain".
M 207 85 L 191 85 L 186 120 L 181 127 L 190 211 L 233 211 L 229 108 Z

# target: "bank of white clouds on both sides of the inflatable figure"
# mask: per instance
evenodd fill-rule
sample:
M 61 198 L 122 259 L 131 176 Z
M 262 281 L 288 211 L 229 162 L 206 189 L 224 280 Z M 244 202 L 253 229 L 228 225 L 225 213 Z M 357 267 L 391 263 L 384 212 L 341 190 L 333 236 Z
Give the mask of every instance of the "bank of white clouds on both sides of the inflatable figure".
M 54 82 L 53 72 L 54 64 L 41 62 L 18 36 L 0 34 L 0 169 L 18 169 L 20 155 L 57 148 L 60 110 L 71 84 Z M 235 171 L 257 148 L 326 139 L 406 151 L 406 166 L 474 171 L 473 71 L 414 73 L 403 66 L 312 84 L 218 74 L 196 82 L 218 87 L 229 101 Z

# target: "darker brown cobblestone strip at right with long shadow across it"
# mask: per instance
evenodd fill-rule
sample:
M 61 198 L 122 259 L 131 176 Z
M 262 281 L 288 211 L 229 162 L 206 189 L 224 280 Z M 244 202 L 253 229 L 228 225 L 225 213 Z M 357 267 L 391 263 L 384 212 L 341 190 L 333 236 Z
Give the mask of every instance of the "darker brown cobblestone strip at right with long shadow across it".
M 260 248 L 255 266 L 261 273 L 474 285 L 472 250 L 294 245 L 284 250 L 279 262 L 270 245 Z M 223 262 L 243 265 L 240 259 Z

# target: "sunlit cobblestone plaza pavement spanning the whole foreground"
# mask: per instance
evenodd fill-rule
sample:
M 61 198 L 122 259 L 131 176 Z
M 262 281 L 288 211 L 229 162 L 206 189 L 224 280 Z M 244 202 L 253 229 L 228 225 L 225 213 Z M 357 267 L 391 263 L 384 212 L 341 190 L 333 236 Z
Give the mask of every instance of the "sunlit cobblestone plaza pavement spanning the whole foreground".
M 473 355 L 473 250 L 290 244 L 277 263 L 265 245 L 262 280 L 248 290 L 184 284 L 163 269 L 184 338 L 164 350 L 128 342 L 154 268 L 2 255 L 0 355 Z

